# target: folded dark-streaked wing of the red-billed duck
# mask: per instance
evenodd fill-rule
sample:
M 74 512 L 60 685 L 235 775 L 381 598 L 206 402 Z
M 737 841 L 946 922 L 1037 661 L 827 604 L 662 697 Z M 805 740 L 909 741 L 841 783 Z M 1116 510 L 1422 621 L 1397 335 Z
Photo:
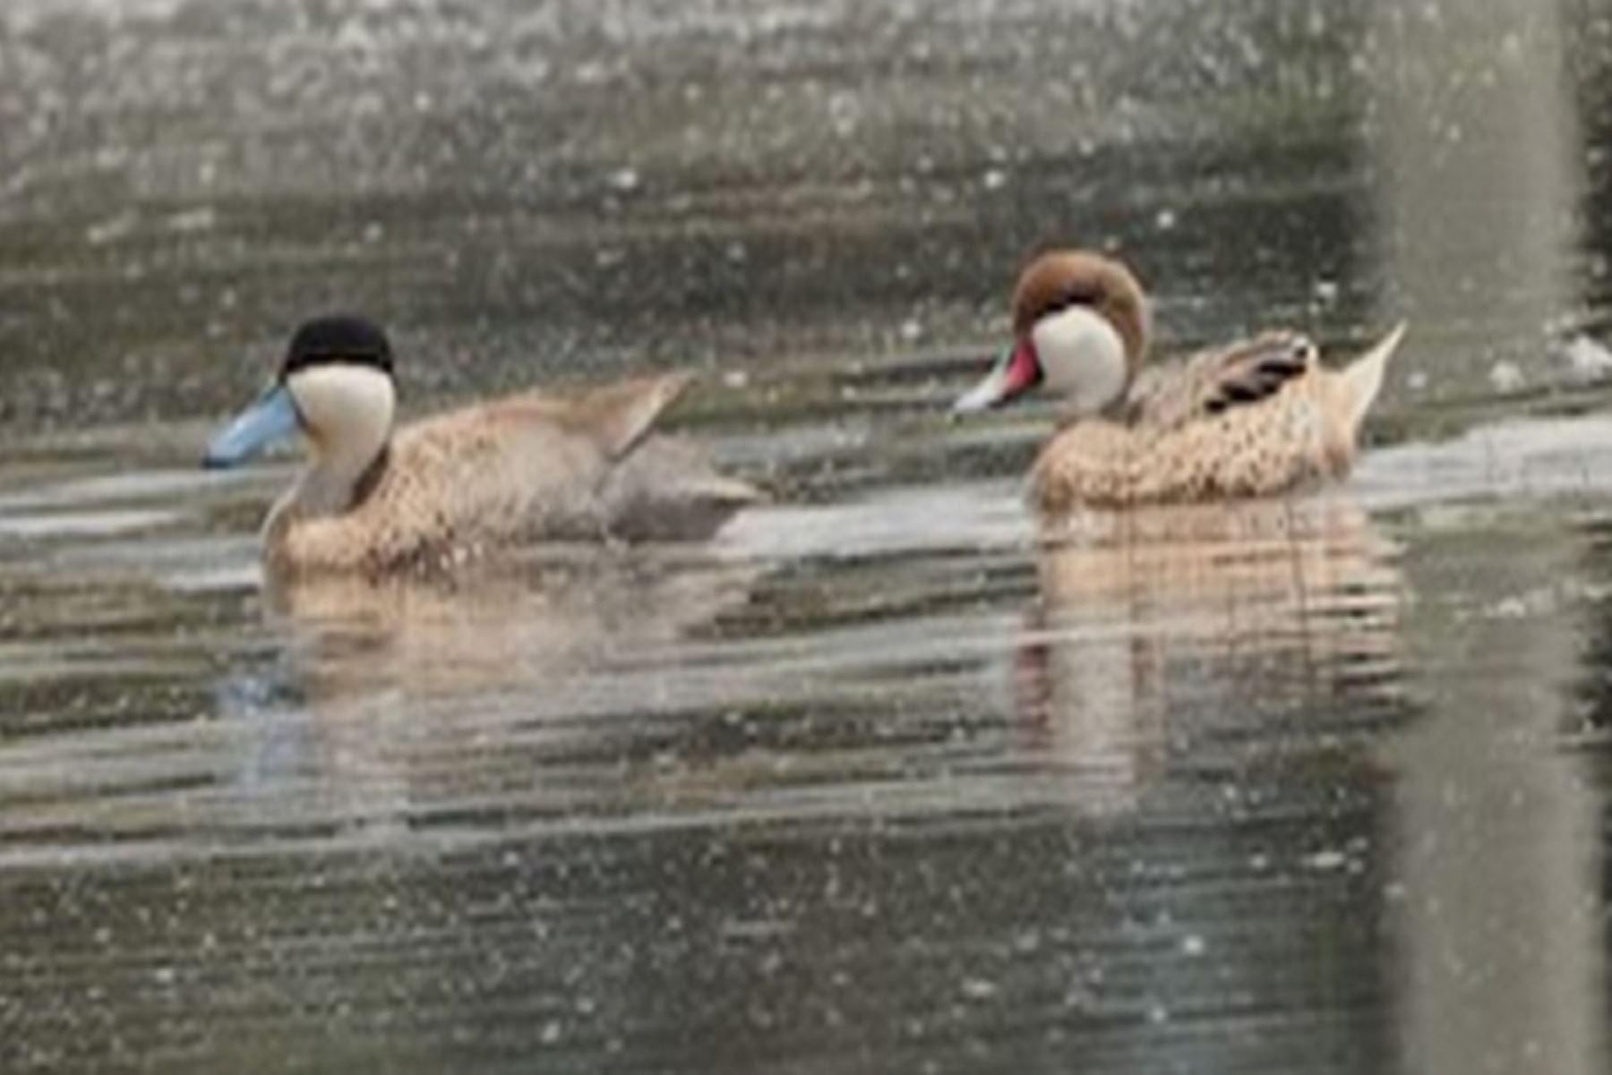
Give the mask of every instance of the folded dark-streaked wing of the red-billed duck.
M 1175 429 L 1259 403 L 1317 367 L 1315 345 L 1298 332 L 1267 332 L 1199 351 L 1174 366 L 1146 367 L 1125 405 L 1130 425 Z

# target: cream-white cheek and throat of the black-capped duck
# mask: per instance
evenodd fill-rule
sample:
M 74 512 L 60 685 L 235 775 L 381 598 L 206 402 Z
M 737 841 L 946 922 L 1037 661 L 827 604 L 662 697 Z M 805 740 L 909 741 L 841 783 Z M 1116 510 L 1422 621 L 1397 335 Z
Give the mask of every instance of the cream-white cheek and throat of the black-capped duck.
M 372 366 L 332 363 L 292 374 L 285 387 L 313 443 L 297 500 L 310 514 L 345 511 L 353 487 L 392 437 L 392 377 Z

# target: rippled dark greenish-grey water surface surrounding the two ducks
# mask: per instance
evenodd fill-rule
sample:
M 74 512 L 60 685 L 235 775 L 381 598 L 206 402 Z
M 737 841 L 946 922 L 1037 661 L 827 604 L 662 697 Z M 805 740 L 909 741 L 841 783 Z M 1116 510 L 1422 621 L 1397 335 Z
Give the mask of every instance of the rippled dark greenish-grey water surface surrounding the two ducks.
M 1612 8 L 11 0 L 0 1070 L 1604 1072 Z M 1024 258 L 1410 335 L 1043 546 Z M 266 587 L 205 437 L 693 367 L 709 545 Z

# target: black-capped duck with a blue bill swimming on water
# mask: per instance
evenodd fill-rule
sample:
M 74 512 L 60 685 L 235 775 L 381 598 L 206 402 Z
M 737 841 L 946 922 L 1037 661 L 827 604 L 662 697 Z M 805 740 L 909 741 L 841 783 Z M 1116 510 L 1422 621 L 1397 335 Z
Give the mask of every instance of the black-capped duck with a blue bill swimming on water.
M 654 429 L 690 384 L 669 372 L 527 390 L 398 429 L 385 330 L 327 314 L 297 327 L 203 466 L 235 467 L 303 434 L 308 463 L 261 532 L 279 577 L 445 567 L 535 540 L 704 540 L 761 493 Z

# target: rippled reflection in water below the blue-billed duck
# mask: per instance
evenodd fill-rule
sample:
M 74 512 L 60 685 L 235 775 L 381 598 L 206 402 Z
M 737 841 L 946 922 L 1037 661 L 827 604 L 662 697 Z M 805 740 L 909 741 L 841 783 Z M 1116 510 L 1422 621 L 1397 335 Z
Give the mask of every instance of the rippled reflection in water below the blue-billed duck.
M 284 646 L 221 683 L 250 825 L 284 832 L 313 809 L 374 841 L 474 827 L 484 807 L 561 809 L 564 759 L 621 757 L 653 714 L 709 703 L 721 677 L 695 659 L 700 630 L 753 574 L 688 546 L 546 545 L 451 577 L 271 580 Z

